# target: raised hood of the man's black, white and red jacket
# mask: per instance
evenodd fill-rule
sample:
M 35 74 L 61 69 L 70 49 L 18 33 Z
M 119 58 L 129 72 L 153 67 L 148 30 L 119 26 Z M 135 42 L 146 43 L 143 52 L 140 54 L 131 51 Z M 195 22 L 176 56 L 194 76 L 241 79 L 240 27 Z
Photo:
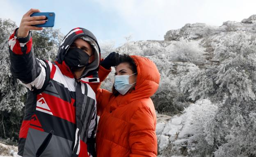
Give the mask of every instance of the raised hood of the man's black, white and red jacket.
M 82 74 L 82 77 L 84 77 L 88 73 L 91 73 L 90 71 L 94 71 L 98 69 L 98 66 L 100 65 L 101 49 L 100 49 L 100 46 L 98 45 L 98 41 L 96 37 L 94 36 L 93 33 L 91 33 L 91 31 L 81 27 L 77 27 L 69 31 L 69 33 L 64 37 L 64 39 L 62 40 L 59 46 L 59 51 L 57 53 L 56 61 L 59 64 L 62 64 L 62 62 L 64 62 L 64 57 L 66 55 L 66 52 L 69 49 L 69 46 L 75 41 L 75 39 L 82 36 L 96 42 L 96 45 L 94 46 L 92 45 L 94 47 L 95 60 L 86 67 L 85 71 Z

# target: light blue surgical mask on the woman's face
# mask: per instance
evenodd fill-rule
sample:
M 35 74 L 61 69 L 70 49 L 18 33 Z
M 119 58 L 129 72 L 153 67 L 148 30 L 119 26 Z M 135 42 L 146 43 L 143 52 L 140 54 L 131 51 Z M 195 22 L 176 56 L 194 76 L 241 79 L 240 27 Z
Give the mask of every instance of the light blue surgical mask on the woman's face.
M 130 76 L 131 75 L 115 75 L 114 87 L 121 95 L 125 95 L 127 91 L 129 91 L 129 89 L 133 86 L 133 84 L 136 83 L 136 82 L 134 82 L 133 84 L 129 83 Z

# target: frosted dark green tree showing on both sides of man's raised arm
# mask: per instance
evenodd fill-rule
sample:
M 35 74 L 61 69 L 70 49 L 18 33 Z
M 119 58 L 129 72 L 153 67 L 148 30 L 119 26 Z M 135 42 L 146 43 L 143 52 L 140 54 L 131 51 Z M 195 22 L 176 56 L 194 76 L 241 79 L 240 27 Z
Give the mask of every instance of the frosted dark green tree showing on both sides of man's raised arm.
M 18 139 L 27 91 L 10 72 L 8 39 L 16 27 L 13 21 L 0 19 L 0 137 L 14 139 Z M 35 55 L 54 61 L 62 33 L 49 28 L 33 31 L 32 38 Z

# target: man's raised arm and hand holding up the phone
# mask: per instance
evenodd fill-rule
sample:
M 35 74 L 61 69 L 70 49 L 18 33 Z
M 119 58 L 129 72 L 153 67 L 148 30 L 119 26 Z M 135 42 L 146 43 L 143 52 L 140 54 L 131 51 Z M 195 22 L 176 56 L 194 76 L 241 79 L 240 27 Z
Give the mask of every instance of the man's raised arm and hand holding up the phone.
M 30 9 L 23 15 L 20 27 L 14 31 L 8 41 L 11 73 L 31 91 L 42 88 L 46 77 L 45 63 L 34 57 L 30 31 L 42 30 L 43 28 L 32 25 L 45 23 L 46 20 L 43 19 L 46 17 L 30 17 L 34 12 L 40 11 L 38 9 Z

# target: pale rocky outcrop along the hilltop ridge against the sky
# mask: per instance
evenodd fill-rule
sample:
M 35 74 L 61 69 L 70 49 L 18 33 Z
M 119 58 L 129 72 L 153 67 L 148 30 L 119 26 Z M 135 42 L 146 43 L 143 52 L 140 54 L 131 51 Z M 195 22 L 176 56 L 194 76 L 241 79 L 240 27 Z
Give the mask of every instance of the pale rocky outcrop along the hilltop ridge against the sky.
M 187 40 L 197 40 L 201 43 L 199 47 L 204 48 L 204 57 L 207 62 L 199 65 L 200 68 L 207 68 L 208 65 L 219 64 L 219 60 L 214 57 L 214 51 L 218 43 L 226 36 L 237 31 L 244 31 L 256 36 L 256 15 L 243 19 L 241 22 L 226 21 L 220 27 L 209 26 L 204 23 L 185 24 L 181 29 L 167 31 L 165 41 L 174 42 L 183 38 Z

